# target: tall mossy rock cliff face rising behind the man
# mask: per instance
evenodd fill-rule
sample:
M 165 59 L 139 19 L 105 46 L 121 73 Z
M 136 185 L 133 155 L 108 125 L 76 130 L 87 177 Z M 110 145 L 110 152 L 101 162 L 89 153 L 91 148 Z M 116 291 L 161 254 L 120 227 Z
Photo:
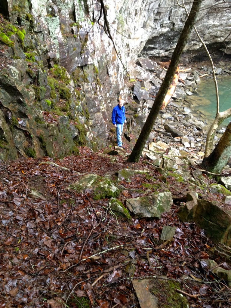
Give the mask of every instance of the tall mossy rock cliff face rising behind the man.
M 198 30 L 206 43 L 229 34 L 230 14 L 220 2 L 204 1 Z M 105 0 L 104 7 L 131 76 L 137 55 L 171 56 L 186 19 L 182 8 L 166 0 Z M 103 147 L 111 109 L 128 89 L 100 1 L 2 0 L 0 14 L 0 159 Z M 192 35 L 187 49 L 199 47 Z

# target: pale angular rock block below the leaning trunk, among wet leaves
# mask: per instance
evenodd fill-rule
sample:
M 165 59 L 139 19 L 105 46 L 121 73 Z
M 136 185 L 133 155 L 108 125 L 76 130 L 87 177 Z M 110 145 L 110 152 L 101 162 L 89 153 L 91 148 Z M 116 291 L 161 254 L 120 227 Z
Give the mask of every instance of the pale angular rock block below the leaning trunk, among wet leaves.
M 126 200 L 128 209 L 138 218 L 157 217 L 160 219 L 162 213 L 170 211 L 172 204 L 170 192 Z

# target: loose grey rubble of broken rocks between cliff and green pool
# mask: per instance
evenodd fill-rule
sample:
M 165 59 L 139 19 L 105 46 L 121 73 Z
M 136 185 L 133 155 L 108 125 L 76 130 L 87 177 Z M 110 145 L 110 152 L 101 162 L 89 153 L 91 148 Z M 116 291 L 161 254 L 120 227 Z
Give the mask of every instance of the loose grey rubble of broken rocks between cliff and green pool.
M 136 82 L 132 91 L 130 91 L 131 99 L 125 107 L 128 116 L 133 115 L 134 119 L 131 121 L 131 126 L 138 133 L 137 125 L 140 127 L 144 125 L 149 110 L 155 102 L 162 80 L 166 75 L 165 67 L 168 63 L 160 64 L 162 66 L 148 58 L 138 58 L 137 64 L 132 70 L 132 75 L 136 77 Z M 179 67 L 179 69 L 179 82 L 175 92 L 167 107 L 160 110 L 147 141 L 146 150 L 153 152 L 153 141 L 155 143 L 162 141 L 164 142 L 164 145 L 162 144 L 164 150 L 170 145 L 185 154 L 190 154 L 194 160 L 200 161 L 204 156 L 209 123 L 206 120 L 201 120 L 203 115 L 195 110 L 187 97 L 196 93 L 197 85 L 201 81 L 200 75 L 204 75 L 206 72 L 208 78 L 211 78 L 212 71 L 207 67 L 201 68 L 202 73 L 185 67 Z M 216 68 L 216 74 L 227 75 L 227 69 L 224 71 L 221 68 Z M 224 130 L 225 128 L 220 128 L 217 131 L 215 141 L 220 139 Z M 147 155 L 147 151 L 145 153 Z

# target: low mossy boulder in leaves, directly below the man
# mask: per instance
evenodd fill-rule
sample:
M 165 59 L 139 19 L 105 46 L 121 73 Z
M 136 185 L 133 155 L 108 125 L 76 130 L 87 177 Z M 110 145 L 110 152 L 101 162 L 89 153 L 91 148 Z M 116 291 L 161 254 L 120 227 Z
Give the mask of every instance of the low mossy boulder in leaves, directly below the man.
M 95 200 L 116 198 L 120 194 L 120 190 L 109 179 L 93 173 L 82 176 L 74 184 L 71 184 L 69 189 L 74 189 L 78 193 L 89 190 L 93 193 Z

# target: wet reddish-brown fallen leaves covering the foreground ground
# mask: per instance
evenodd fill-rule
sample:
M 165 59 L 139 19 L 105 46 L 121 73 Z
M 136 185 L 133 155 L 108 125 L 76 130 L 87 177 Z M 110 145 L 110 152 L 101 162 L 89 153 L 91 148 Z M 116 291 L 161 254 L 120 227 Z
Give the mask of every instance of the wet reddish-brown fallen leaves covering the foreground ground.
M 162 276 L 180 282 L 190 307 L 231 307 L 231 290 L 203 263 L 213 244 L 194 223 L 178 220 L 177 202 L 161 219 L 127 221 L 111 211 L 108 199 L 95 201 L 90 190 L 67 190 L 79 173 L 103 176 L 127 167 L 148 168 L 150 176 L 119 182 L 123 204 L 156 190 L 145 184 L 164 188 L 160 173 L 146 161 L 128 164 L 117 156 L 113 163 L 99 154 L 82 147 L 79 156 L 63 160 L 21 158 L 0 165 L 0 307 L 140 307 L 132 279 Z M 167 180 L 180 199 L 187 183 Z M 209 200 L 219 198 L 198 192 Z M 176 234 L 163 243 L 166 225 L 176 227 Z M 230 269 L 220 255 L 213 259 Z

